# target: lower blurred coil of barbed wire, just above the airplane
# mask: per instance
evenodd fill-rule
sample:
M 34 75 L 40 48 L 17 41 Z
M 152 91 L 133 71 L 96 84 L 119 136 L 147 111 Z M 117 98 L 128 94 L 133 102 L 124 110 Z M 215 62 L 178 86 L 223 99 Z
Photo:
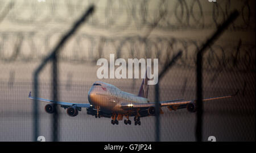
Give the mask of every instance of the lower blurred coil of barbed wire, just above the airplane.
M 40 34 L 35 32 L 0 32 L 0 61 L 36 61 L 45 57 L 60 33 Z M 131 57 L 158 58 L 164 65 L 179 49 L 183 51 L 177 65 L 193 68 L 196 64 L 196 50 L 199 40 L 155 36 L 144 39 L 142 36 L 112 37 L 77 34 L 65 47 L 60 60 L 68 63 L 96 63 L 100 58 L 109 59 Z M 204 68 L 230 71 L 255 71 L 255 44 L 242 40 L 225 44 L 214 44 L 204 56 Z

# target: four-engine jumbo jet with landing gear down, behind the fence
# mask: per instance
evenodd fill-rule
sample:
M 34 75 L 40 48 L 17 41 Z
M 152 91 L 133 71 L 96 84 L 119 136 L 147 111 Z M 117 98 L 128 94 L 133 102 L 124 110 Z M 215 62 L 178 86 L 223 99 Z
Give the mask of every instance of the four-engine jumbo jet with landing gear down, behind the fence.
M 71 117 L 78 115 L 81 108 L 86 108 L 87 114 L 93 115 L 96 118 L 112 118 L 111 123 L 113 125 L 118 125 L 118 121 L 122 121 L 123 117 L 126 117 L 126 119 L 124 119 L 125 125 L 131 125 L 129 117 L 134 117 L 134 125 L 141 125 L 141 117 L 155 115 L 155 102 L 150 102 L 147 98 L 149 88 L 147 81 L 148 77 L 146 72 L 146 77 L 143 78 L 138 95 L 123 92 L 114 85 L 96 81 L 88 92 L 89 104 L 77 104 L 61 101 L 55 102 L 44 98 L 32 97 L 31 92 L 29 93 L 28 98 L 31 100 L 36 99 L 38 101 L 49 102 L 49 104 L 44 107 L 46 112 L 49 114 L 54 113 L 55 107 L 53 107 L 53 103 L 55 103 L 64 109 L 67 109 L 67 114 Z M 229 96 L 206 98 L 202 101 L 205 102 L 233 97 L 238 94 L 238 91 L 236 94 Z M 163 114 L 161 107 L 167 107 L 170 111 L 187 109 L 189 112 L 196 112 L 197 110 L 196 100 L 170 100 L 161 101 L 159 104 L 160 114 Z

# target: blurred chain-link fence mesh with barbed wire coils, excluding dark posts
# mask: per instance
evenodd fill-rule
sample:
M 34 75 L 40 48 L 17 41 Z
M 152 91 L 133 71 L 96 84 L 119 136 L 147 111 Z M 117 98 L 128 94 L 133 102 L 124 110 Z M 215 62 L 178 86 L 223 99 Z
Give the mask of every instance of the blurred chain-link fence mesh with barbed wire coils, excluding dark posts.
M 156 119 L 141 118 L 141 126 L 112 125 L 82 108 L 70 117 L 58 106 L 54 114 L 46 103 L 28 100 L 34 73 L 74 27 L 89 6 L 88 16 L 63 46 L 57 71 L 49 62 L 38 75 L 38 97 L 88 104 L 95 81 L 138 94 L 142 79 L 98 79 L 100 58 L 159 59 L 159 74 L 177 57 L 159 81 L 159 101 L 196 100 L 199 49 L 234 10 L 239 16 L 203 55 L 203 98 L 237 96 L 203 103 L 201 140 L 255 140 L 255 1 L 0 1 L 0 141 L 155 141 Z M 53 72 L 57 85 L 53 89 Z M 155 102 L 155 86 L 148 100 Z M 38 110 L 38 112 L 35 112 Z M 162 107 L 160 141 L 195 141 L 197 113 Z M 37 114 L 37 115 L 35 115 Z M 57 121 L 57 122 L 56 122 Z M 55 128 L 53 128 L 54 124 Z M 157 122 L 158 123 L 158 122 Z M 56 130 L 57 128 L 57 130 Z M 56 135 L 53 134 L 56 130 Z

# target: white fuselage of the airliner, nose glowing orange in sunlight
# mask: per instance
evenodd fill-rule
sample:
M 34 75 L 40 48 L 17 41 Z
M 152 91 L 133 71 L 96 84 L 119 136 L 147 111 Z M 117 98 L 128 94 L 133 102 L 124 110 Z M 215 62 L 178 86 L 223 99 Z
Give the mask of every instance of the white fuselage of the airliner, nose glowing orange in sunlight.
M 135 96 L 123 92 L 114 85 L 96 81 L 88 92 L 88 100 L 91 105 L 99 106 L 105 113 L 127 113 L 121 108 L 121 104 L 146 104 L 147 98 Z

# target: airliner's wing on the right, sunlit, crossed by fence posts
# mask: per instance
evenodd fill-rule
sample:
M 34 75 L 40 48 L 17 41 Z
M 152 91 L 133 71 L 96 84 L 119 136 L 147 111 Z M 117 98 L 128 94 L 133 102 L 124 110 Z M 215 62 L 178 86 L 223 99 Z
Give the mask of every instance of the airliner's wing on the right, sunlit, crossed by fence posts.
M 202 101 L 210 101 L 210 100 L 219 100 L 219 99 L 224 99 L 224 98 L 229 98 L 236 96 L 236 94 L 232 94 L 229 96 L 221 96 L 221 97 L 212 97 L 212 98 L 205 98 Z M 189 101 L 181 101 L 181 100 L 173 100 L 173 101 L 162 101 L 159 102 L 160 107 L 167 106 L 169 110 L 177 110 L 177 109 L 184 109 L 187 107 L 187 104 L 194 102 L 195 100 L 189 100 Z M 121 107 L 123 109 L 148 109 L 148 107 L 154 107 L 155 102 L 150 102 L 147 104 L 121 104 Z

